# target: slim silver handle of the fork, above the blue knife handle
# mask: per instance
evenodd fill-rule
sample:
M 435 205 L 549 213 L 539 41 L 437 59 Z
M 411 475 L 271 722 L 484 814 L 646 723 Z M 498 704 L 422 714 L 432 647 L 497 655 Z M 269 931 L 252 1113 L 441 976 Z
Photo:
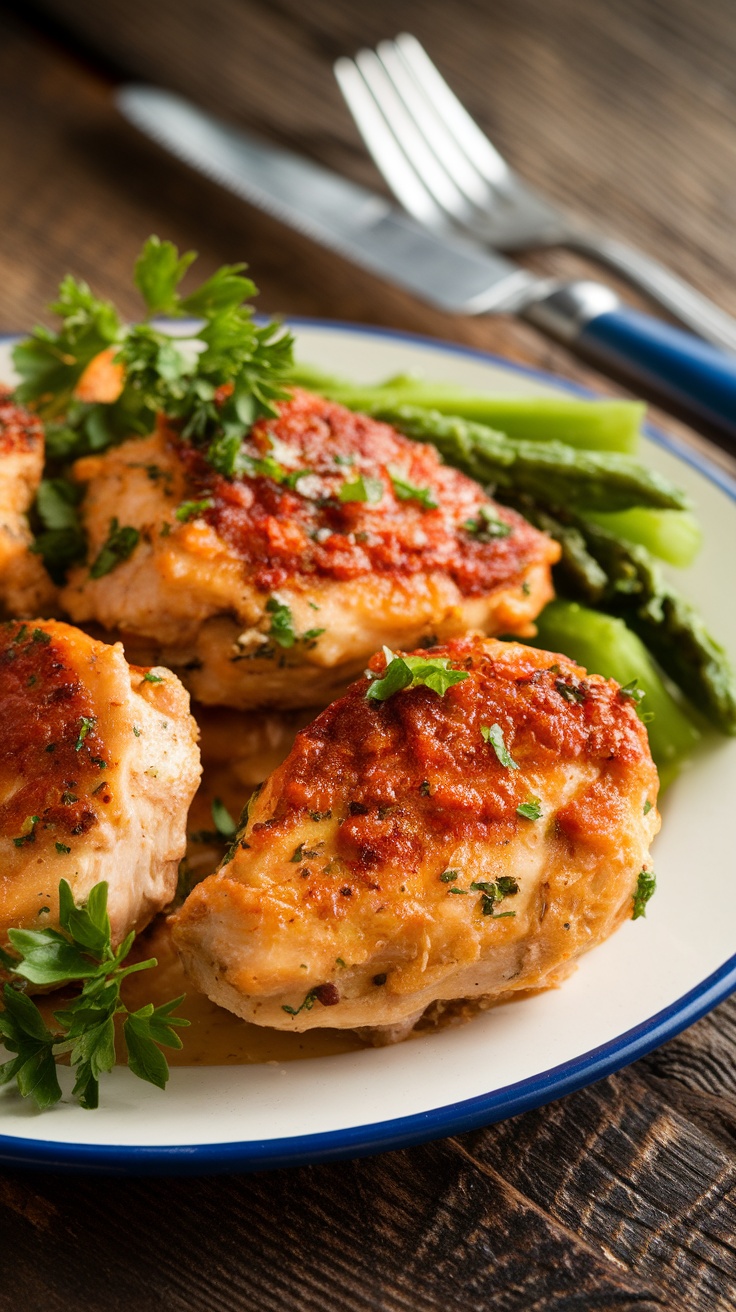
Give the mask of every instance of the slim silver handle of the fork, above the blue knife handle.
M 699 337 L 736 352 L 736 319 L 657 260 L 635 251 L 624 241 L 597 234 L 575 234 L 565 239 L 565 245 L 623 274 L 634 287 L 644 291 Z

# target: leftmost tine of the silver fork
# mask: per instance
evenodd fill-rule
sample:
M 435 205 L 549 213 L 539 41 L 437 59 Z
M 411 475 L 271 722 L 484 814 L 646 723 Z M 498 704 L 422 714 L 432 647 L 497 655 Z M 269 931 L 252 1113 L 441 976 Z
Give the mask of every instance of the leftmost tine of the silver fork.
M 358 131 L 394 195 L 420 223 L 432 228 L 443 227 L 442 210 L 396 144 L 394 133 L 387 126 L 357 64 L 352 59 L 337 59 L 335 76 Z

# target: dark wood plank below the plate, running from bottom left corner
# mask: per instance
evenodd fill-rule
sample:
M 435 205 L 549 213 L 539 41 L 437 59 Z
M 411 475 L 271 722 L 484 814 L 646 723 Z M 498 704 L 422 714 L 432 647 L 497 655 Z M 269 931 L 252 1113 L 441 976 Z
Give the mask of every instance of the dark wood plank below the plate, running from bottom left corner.
M 5 1186 L 13 1287 L 45 1312 L 674 1307 L 453 1141 L 268 1177 Z

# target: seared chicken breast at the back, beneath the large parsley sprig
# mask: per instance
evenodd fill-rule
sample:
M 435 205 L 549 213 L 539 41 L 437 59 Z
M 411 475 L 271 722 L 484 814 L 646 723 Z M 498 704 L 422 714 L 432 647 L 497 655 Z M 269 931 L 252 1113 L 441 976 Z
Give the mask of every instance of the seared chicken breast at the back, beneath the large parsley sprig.
M 240 461 L 227 479 L 161 421 L 73 468 L 89 556 L 63 606 L 201 702 L 324 705 L 382 643 L 525 634 L 551 596 L 556 543 L 387 424 L 298 391 Z

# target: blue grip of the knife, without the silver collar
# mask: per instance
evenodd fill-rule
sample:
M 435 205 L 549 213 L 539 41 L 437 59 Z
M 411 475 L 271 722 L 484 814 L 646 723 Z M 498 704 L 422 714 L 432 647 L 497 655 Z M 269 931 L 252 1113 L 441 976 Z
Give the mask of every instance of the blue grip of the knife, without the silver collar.
M 610 310 L 583 325 L 579 348 L 710 420 L 736 438 L 736 356 L 639 310 Z

